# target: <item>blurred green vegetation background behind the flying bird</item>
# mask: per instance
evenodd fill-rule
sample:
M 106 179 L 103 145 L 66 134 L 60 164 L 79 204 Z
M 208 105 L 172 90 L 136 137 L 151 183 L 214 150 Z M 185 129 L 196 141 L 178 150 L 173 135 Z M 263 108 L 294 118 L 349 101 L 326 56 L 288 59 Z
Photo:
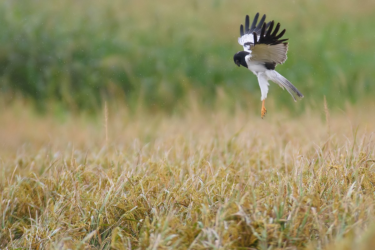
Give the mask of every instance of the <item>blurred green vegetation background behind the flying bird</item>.
M 286 28 L 288 60 L 276 70 L 305 95 L 299 109 L 373 98 L 375 1 L 0 2 L 2 103 L 100 108 L 104 101 L 175 110 L 260 102 L 257 78 L 233 63 L 245 15 Z M 269 98 L 291 105 L 271 84 Z M 220 102 L 220 103 L 219 103 Z

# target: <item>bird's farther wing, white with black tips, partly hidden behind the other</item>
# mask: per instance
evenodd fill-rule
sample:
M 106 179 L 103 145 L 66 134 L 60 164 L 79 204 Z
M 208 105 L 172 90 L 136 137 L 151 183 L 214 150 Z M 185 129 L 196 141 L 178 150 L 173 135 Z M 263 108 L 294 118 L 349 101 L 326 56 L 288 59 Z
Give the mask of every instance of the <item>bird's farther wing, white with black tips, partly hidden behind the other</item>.
M 250 26 L 250 18 L 249 15 L 246 15 L 245 19 L 245 30 L 243 29 L 243 25 L 241 24 L 240 26 L 240 35 L 241 37 L 238 38 L 238 42 L 240 45 L 243 46 L 243 50 L 251 52 L 251 46 L 254 45 L 254 36 L 253 32 L 257 33 L 259 38 L 260 36 L 260 31 L 263 27 L 264 20 L 266 20 L 266 15 L 263 15 L 262 18 L 260 19 L 259 23 L 258 22 L 259 18 L 259 12 L 255 15 L 254 20 Z M 266 29 L 269 27 L 271 22 L 266 24 Z

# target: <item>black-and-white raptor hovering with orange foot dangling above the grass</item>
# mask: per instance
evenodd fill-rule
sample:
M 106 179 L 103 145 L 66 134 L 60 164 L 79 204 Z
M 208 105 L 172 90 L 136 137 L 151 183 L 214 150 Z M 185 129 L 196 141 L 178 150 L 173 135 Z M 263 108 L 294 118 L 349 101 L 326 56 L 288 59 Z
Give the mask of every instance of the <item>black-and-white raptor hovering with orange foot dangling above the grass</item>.
M 250 26 L 249 16 L 246 15 L 245 30 L 241 24 L 241 37 L 238 38 L 238 42 L 244 50 L 234 54 L 233 60 L 237 66 L 242 65 L 248 68 L 258 77 L 262 94 L 261 118 L 263 119 L 267 113 L 264 100 L 267 98 L 269 80 L 279 84 L 283 89 L 286 88 L 293 96 L 294 101 L 296 101 L 296 96 L 302 98 L 303 94 L 287 78 L 275 70 L 277 64 L 282 64 L 287 60 L 288 43 L 285 41 L 288 39 L 280 39 L 284 35 L 285 29 L 278 34 L 280 23 L 276 24 L 273 30 L 274 21 L 266 23 L 266 15 L 263 15 L 257 24 L 258 18 L 259 12 L 255 15 Z

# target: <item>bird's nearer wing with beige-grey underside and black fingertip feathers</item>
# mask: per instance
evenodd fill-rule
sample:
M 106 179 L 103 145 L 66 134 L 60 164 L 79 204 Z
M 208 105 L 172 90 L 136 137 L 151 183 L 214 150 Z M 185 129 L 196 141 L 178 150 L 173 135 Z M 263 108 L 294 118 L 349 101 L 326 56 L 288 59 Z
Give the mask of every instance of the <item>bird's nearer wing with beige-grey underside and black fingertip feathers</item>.
M 275 22 L 272 21 L 267 30 L 267 25 L 264 23 L 260 34 L 253 31 L 254 45 L 250 47 L 250 60 L 273 63 L 275 66 L 287 60 L 288 43 L 285 41 L 288 39 L 280 39 L 285 29 L 278 34 L 280 29 L 280 23 L 278 23 L 272 32 L 274 24 Z

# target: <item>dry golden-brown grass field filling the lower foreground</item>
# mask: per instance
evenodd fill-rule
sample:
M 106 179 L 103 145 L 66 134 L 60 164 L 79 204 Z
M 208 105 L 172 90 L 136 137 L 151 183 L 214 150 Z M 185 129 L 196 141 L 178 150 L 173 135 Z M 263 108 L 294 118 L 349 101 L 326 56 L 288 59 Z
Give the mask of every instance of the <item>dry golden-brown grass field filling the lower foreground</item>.
M 374 101 L 253 108 L 2 109 L 0 248 L 370 249 Z

